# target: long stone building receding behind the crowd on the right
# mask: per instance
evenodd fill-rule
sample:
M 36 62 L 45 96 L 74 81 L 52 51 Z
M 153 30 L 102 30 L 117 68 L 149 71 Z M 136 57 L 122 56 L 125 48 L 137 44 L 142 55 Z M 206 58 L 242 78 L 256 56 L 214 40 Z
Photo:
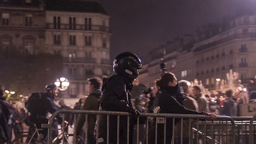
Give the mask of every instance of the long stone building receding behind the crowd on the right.
M 255 55 L 256 15 L 251 12 L 237 14 L 223 19 L 223 23 L 211 23 L 194 35 L 175 38 L 149 52 L 145 56 L 147 59 L 142 58 L 146 68 L 140 71 L 142 74 L 137 81 L 147 87 L 153 86 L 152 81 L 160 77 L 159 63 L 165 62 L 166 71 L 175 73 L 178 80 L 198 79 L 209 90 L 218 89 L 216 79 L 227 81 L 230 69 L 239 73 L 238 79 L 246 86 L 256 75 Z M 151 73 L 157 77 L 151 77 Z

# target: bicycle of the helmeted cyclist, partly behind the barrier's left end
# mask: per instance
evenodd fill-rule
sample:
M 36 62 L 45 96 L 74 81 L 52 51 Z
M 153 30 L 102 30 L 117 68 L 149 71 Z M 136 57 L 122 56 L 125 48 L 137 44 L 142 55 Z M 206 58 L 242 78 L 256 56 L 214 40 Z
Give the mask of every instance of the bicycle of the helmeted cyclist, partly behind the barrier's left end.
M 33 135 L 19 135 L 18 137 L 14 138 L 11 142 L 11 144 L 45 144 L 46 142 L 42 142 L 36 139 L 36 136 L 39 136 L 39 132 L 40 130 L 43 129 L 38 129 L 36 128 L 36 125 L 33 126 L 33 128 L 35 129 L 35 131 L 33 132 Z M 33 129 L 31 128 L 31 130 Z M 62 129 L 57 129 L 57 130 L 62 130 Z M 22 132 L 22 133 L 29 133 L 29 132 Z M 62 139 L 63 139 L 63 133 L 59 134 L 57 137 L 55 137 L 55 139 L 53 139 L 52 143 L 56 143 L 59 144 L 61 143 Z M 70 142 L 69 137 L 73 137 L 73 134 L 67 134 L 66 132 L 64 132 L 64 144 L 73 144 L 73 138 L 72 138 L 72 142 Z M 21 139 L 19 141 L 19 139 Z M 85 144 L 83 138 L 79 135 L 76 136 L 76 144 Z

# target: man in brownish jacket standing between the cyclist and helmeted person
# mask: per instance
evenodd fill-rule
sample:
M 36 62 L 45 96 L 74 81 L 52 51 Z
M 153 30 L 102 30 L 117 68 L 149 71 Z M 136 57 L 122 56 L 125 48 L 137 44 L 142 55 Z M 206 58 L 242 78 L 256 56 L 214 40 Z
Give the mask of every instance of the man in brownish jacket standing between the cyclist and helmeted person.
M 102 95 L 102 91 L 100 89 L 101 83 L 102 83 L 101 79 L 99 78 L 89 79 L 88 88 L 89 88 L 90 94 L 85 99 L 85 103 L 83 105 L 82 110 L 98 110 L 99 109 L 100 96 Z M 88 134 L 88 144 L 96 144 L 96 141 L 93 137 L 96 119 L 97 119 L 96 115 L 88 115 L 88 122 L 87 122 L 88 127 L 87 127 L 87 133 L 85 133 L 85 134 Z M 81 134 L 84 123 L 85 123 L 85 114 L 81 114 L 76 127 L 77 134 Z M 84 131 L 86 132 L 86 130 Z

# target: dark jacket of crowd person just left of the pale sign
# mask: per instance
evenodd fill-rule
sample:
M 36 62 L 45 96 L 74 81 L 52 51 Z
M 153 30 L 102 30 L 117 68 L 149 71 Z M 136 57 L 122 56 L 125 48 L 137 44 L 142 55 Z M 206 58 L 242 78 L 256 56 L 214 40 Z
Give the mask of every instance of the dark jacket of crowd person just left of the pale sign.
M 237 103 L 232 98 L 227 98 L 223 103 L 222 115 L 237 116 Z

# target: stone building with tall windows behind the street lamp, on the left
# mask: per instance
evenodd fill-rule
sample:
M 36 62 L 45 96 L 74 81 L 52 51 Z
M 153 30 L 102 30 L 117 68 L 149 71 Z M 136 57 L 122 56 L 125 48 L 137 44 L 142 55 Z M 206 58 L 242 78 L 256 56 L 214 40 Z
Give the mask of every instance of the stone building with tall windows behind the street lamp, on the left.
M 87 79 L 109 76 L 109 16 L 100 3 L 83 0 L 2 0 L 1 50 L 62 55 L 63 97 L 88 94 Z M 9 48 L 8 48 L 9 47 Z M 54 80 L 53 80 L 54 82 Z

